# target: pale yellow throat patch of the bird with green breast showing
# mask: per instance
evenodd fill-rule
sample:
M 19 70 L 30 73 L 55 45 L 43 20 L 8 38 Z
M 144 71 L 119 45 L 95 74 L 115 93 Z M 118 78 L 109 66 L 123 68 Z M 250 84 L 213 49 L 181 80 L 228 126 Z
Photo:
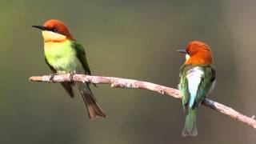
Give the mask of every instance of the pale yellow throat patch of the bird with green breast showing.
M 43 30 L 42 31 L 42 37 L 45 40 L 45 42 L 48 41 L 64 41 L 66 40 L 66 36 L 63 34 L 58 34 L 58 33 L 54 33 L 52 31 L 49 30 Z

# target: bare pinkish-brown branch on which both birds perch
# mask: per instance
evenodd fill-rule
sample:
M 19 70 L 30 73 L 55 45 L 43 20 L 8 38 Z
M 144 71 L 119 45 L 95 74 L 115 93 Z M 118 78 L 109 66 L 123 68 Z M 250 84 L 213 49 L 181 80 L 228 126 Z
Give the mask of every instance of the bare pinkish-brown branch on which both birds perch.
M 65 75 L 56 75 L 50 81 L 49 75 L 44 76 L 35 76 L 30 77 L 30 81 L 32 82 L 71 82 L 70 74 Z M 126 79 L 126 78 L 114 78 L 114 77 L 102 77 L 102 76 L 90 76 L 83 74 L 74 74 L 73 82 L 90 82 L 95 84 L 110 84 L 111 87 L 118 88 L 129 88 L 129 89 L 143 89 L 143 90 L 152 90 L 158 92 L 160 94 L 166 94 L 174 98 L 181 99 L 182 96 L 179 90 L 174 88 L 157 85 L 151 82 L 142 82 L 134 79 Z M 208 98 L 205 98 L 202 101 L 203 106 L 207 106 L 212 110 L 216 110 L 222 114 L 229 116 L 230 118 L 234 118 L 238 122 L 242 122 L 248 126 L 252 126 L 256 129 L 256 119 L 254 116 L 247 117 L 244 114 L 239 113 L 238 111 L 232 109 L 229 106 L 222 105 L 221 103 L 214 102 Z

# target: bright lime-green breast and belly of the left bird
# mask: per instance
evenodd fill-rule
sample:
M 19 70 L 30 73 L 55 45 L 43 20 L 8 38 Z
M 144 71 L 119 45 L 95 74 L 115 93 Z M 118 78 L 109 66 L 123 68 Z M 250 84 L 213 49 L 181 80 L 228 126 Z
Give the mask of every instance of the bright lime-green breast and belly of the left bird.
M 67 74 L 77 68 L 76 53 L 70 43 L 45 44 L 45 56 L 50 66 L 58 73 Z

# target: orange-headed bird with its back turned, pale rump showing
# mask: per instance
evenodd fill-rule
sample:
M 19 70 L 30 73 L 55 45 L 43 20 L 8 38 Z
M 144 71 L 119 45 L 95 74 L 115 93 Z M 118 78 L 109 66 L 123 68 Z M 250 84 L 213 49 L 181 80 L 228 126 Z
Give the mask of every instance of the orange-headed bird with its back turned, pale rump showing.
M 186 114 L 182 136 L 197 136 L 197 112 L 202 100 L 214 89 L 215 70 L 210 46 L 204 42 L 192 41 L 184 50 L 186 62 L 179 73 L 178 89 L 182 94 L 182 106 Z

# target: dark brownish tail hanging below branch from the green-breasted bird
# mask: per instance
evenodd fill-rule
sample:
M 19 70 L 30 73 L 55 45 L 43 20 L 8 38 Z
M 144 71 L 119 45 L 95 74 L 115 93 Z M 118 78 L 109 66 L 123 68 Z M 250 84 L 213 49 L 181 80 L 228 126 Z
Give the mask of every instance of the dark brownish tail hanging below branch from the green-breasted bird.
M 86 103 L 89 118 L 94 119 L 97 118 L 97 116 L 107 118 L 106 112 L 102 110 L 101 106 L 98 105 L 98 102 L 94 98 L 94 94 L 91 92 L 89 84 L 81 83 L 78 85 L 78 88 L 82 94 L 84 102 Z

